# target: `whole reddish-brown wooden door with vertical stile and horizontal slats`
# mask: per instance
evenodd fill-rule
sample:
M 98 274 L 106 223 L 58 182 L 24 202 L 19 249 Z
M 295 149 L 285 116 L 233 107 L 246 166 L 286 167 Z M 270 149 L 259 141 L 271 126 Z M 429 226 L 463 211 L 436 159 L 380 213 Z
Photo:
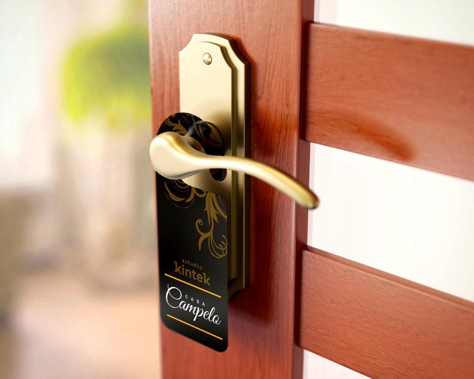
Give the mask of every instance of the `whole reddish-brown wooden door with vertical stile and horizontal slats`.
M 473 48 L 312 19 L 312 0 L 150 0 L 154 134 L 179 109 L 178 51 L 218 33 L 251 64 L 252 158 L 308 183 L 315 142 L 474 180 Z M 472 377 L 473 303 L 306 247 L 307 212 L 250 190 L 229 347 L 161 327 L 164 378 L 301 378 L 303 348 L 373 378 Z

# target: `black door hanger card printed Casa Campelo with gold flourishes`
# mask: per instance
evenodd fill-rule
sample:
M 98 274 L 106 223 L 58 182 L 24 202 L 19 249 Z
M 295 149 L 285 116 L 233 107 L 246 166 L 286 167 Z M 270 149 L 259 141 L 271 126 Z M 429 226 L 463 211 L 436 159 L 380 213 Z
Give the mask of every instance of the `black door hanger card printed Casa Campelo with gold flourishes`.
M 169 116 L 158 134 L 193 138 L 222 155 L 215 126 L 192 114 Z M 214 172 L 213 176 L 219 175 Z M 156 174 L 160 314 L 166 327 L 217 351 L 227 348 L 227 205 L 217 194 Z

